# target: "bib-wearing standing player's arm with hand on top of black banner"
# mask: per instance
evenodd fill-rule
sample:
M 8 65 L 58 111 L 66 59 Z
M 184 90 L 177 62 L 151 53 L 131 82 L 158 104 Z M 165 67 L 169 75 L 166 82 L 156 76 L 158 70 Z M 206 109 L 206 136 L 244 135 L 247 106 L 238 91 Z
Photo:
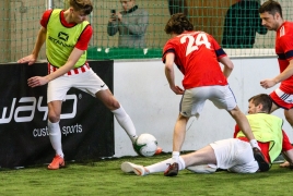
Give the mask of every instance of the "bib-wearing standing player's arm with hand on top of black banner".
M 17 63 L 28 63 L 28 65 L 34 64 L 37 60 L 40 48 L 46 40 L 46 35 L 47 35 L 47 28 L 42 26 L 40 29 L 38 30 L 36 44 L 34 46 L 32 53 L 30 56 L 20 59 Z

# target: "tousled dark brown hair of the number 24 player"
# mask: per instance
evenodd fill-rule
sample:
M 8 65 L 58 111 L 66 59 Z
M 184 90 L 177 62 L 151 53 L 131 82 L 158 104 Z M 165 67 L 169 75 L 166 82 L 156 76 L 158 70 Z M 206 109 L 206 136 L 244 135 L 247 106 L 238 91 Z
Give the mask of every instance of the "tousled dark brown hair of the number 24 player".
M 173 14 L 165 26 L 166 34 L 181 34 L 184 30 L 194 30 L 194 25 L 185 14 Z

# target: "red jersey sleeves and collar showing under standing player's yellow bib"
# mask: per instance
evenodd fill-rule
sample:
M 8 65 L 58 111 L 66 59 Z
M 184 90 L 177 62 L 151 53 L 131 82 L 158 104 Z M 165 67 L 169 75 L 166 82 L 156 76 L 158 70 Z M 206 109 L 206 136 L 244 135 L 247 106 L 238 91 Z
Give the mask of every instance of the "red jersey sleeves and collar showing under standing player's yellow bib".
M 44 12 L 43 14 L 43 17 L 40 20 L 40 25 L 45 28 L 47 28 L 47 24 L 48 24 L 48 21 L 50 19 L 50 14 L 51 14 L 52 10 L 47 10 Z M 60 12 L 60 20 L 61 20 L 61 23 L 63 26 L 66 27 L 72 27 L 74 25 L 77 25 L 75 23 L 67 23 L 66 19 L 65 19 L 65 11 L 61 11 Z M 83 33 L 80 35 L 80 38 L 75 45 L 75 48 L 80 49 L 80 50 L 86 50 L 87 49 L 87 46 L 89 46 L 89 42 L 91 40 L 91 37 L 93 35 L 93 28 L 91 25 L 87 25 Z

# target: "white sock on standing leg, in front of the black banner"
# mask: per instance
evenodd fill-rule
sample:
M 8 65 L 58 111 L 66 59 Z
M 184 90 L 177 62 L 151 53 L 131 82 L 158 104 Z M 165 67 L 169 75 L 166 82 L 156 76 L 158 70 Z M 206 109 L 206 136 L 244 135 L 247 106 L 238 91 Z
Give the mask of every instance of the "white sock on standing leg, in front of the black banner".
M 49 132 L 49 138 L 51 142 L 51 146 L 56 151 L 56 155 L 59 155 L 60 157 L 65 157 L 62 151 L 62 144 L 61 144 L 61 131 L 59 126 L 59 122 L 51 123 L 48 120 L 48 132 Z

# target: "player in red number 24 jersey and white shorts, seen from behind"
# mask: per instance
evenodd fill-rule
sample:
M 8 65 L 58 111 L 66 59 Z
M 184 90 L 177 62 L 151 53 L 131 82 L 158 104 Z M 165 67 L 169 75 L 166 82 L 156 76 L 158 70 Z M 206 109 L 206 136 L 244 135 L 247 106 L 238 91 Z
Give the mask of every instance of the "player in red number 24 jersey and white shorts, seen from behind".
M 173 135 L 172 163 L 165 171 L 166 176 L 177 175 L 178 158 L 185 139 L 186 124 L 190 117 L 199 117 L 206 100 L 211 100 L 219 109 L 225 109 L 239 125 L 254 148 L 255 158 L 262 171 L 269 169 L 254 137 L 245 114 L 237 107 L 235 97 L 226 78 L 234 65 L 214 38 L 204 32 L 195 32 L 186 15 L 172 15 L 165 26 L 172 38 L 163 50 L 165 74 L 171 89 L 183 95 L 180 112 Z M 224 65 L 222 71 L 219 61 Z M 174 63 L 184 74 L 183 86 L 175 85 Z

